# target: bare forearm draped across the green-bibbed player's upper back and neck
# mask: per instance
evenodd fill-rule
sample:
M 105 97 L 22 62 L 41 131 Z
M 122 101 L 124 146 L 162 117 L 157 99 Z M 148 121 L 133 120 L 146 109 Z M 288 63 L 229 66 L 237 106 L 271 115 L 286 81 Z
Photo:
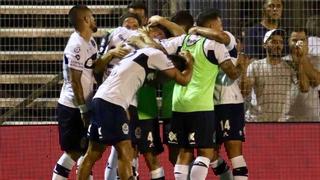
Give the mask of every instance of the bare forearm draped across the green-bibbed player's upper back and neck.
M 208 39 L 215 40 L 225 46 L 228 46 L 230 43 L 230 37 L 227 33 L 212 28 L 195 26 L 189 30 L 189 34 L 198 34 Z

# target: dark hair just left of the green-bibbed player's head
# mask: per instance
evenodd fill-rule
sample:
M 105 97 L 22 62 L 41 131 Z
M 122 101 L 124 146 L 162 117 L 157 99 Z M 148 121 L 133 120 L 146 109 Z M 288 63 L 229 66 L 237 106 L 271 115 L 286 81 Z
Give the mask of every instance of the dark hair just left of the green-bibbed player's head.
M 181 10 L 176 12 L 172 17 L 171 21 L 178 24 L 183 25 L 186 27 L 186 30 L 188 31 L 194 24 L 194 19 L 189 11 L 187 10 Z

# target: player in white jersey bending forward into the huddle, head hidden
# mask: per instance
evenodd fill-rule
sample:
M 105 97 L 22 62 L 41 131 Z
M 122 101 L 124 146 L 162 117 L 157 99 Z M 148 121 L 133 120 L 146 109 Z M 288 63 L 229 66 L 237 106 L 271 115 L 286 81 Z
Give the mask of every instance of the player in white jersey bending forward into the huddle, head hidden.
M 132 146 L 126 109 L 149 73 L 161 71 L 177 83 L 186 85 L 192 76 L 192 56 L 181 53 L 187 61 L 182 73 L 160 50 L 142 48 L 134 51 L 114 67 L 99 87 L 93 99 L 94 113 L 88 130 L 88 151 L 80 167 L 78 179 L 86 180 L 94 163 L 101 158 L 106 145 L 114 145 L 118 152 L 120 179 L 133 179 L 131 169 Z

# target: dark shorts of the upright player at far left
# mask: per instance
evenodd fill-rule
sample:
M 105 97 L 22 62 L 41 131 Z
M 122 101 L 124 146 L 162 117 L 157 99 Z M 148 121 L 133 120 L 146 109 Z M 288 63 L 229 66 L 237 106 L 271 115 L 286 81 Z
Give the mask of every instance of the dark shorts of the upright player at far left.
M 58 103 L 57 119 L 61 150 L 85 152 L 88 147 L 87 129 L 83 126 L 79 109 Z

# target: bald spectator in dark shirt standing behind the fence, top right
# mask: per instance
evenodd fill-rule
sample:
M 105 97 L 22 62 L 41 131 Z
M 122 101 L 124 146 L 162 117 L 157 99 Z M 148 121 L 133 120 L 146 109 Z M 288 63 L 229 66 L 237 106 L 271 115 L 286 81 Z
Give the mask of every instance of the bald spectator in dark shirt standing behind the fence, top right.
M 279 28 L 282 16 L 282 0 L 264 0 L 262 9 L 262 20 L 259 24 L 245 30 L 243 43 L 244 52 L 250 58 L 263 59 L 266 51 L 261 42 L 267 31 Z

